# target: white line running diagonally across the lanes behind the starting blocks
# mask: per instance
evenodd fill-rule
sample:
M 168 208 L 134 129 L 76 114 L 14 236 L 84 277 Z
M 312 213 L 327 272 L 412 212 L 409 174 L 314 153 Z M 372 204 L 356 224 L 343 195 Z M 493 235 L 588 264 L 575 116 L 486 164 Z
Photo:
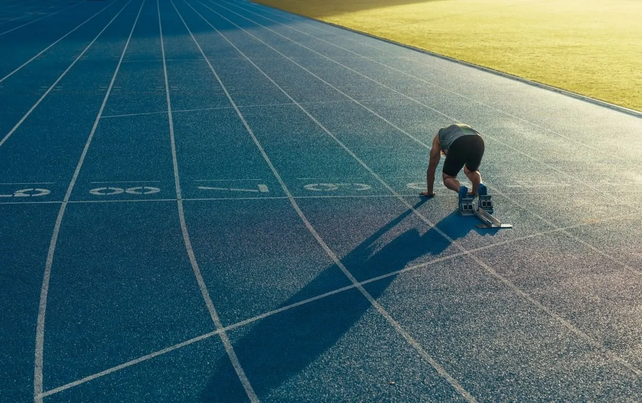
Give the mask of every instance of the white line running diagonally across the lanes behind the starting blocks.
M 630 218 L 630 215 L 627 214 L 625 216 L 618 216 L 618 217 L 603 219 L 602 221 L 609 221 L 611 219 L 622 219 L 622 218 Z M 573 225 L 573 226 L 570 226 L 570 227 L 560 228 L 559 230 L 566 230 L 566 229 L 570 229 L 570 228 L 581 227 L 582 225 L 589 225 L 589 224 Z M 79 379 L 78 381 L 69 382 L 68 384 L 64 384 L 63 386 L 59 386 L 58 388 L 46 391 L 42 395 L 43 396 L 53 395 L 54 393 L 58 393 L 60 391 L 72 388 L 73 386 L 78 386 L 78 385 L 80 385 L 82 383 L 85 383 L 85 382 L 88 382 L 88 381 L 92 381 L 92 380 L 94 380 L 96 378 L 103 377 L 103 376 L 108 375 L 110 373 L 114 373 L 116 371 L 122 370 L 123 368 L 127 368 L 128 366 L 132 366 L 132 365 L 135 365 L 135 364 L 138 364 L 138 363 L 142 363 L 143 361 L 147 361 L 147 360 L 152 359 L 154 357 L 158 357 L 158 356 L 160 356 L 162 354 L 166 354 L 166 353 L 171 352 L 173 350 L 177 350 L 178 348 L 186 347 L 187 345 L 191 345 L 193 343 L 196 343 L 197 341 L 201 341 L 201 340 L 210 338 L 211 336 L 216 336 L 216 334 L 218 334 L 220 331 L 228 332 L 229 330 L 237 329 L 238 327 L 242 327 L 242 326 L 248 325 L 249 323 L 256 322 L 257 320 L 261 320 L 261 319 L 267 318 L 268 316 L 272 316 L 274 314 L 282 313 L 284 311 L 288 311 L 288 310 L 293 309 L 295 307 L 299 307 L 301 305 L 306 305 L 306 304 L 309 304 L 310 302 L 315 302 L 315 301 L 320 300 L 322 298 L 325 298 L 327 296 L 332 296 L 332 295 L 335 295 L 335 294 L 338 294 L 338 293 L 342 293 L 343 291 L 347 291 L 349 289 L 354 289 L 358 285 L 364 286 L 366 284 L 370 284 L 371 282 L 376 282 L 376 281 L 379 281 L 379 280 L 386 279 L 388 277 L 397 276 L 397 275 L 399 275 L 401 273 L 406 273 L 408 271 L 413 271 L 413 270 L 419 270 L 421 268 L 427 268 L 427 267 L 429 267 L 429 266 L 431 266 L 431 265 L 433 265 L 435 263 L 438 263 L 438 262 L 449 261 L 451 259 L 455 259 L 456 257 L 462 257 L 462 256 L 465 256 L 465 255 L 470 254 L 470 253 L 480 252 L 482 250 L 487 250 L 487 249 L 494 248 L 496 246 L 505 245 L 505 244 L 508 244 L 508 243 L 514 243 L 514 242 L 517 242 L 517 241 L 524 241 L 526 239 L 532 239 L 534 237 L 543 236 L 543 235 L 547 235 L 547 234 L 552 234 L 554 232 L 558 232 L 559 230 L 550 230 L 550 231 L 538 232 L 537 234 L 531 234 L 531 235 L 528 235 L 528 236 L 508 239 L 507 241 L 502 241 L 502 242 L 498 242 L 498 243 L 495 243 L 495 244 L 489 244 L 489 245 L 486 245 L 486 246 L 481 246 L 479 248 L 474 248 L 474 249 L 468 250 L 467 252 L 453 253 L 451 255 L 447 255 L 447 256 L 444 256 L 444 257 L 439 257 L 437 259 L 433 259 L 433 260 L 428 261 L 428 262 L 424 262 L 424 263 L 421 263 L 421 264 L 415 264 L 413 266 L 408 266 L 408 267 L 404 268 L 403 270 L 392 271 L 390 273 L 386 273 L 385 275 L 373 277 L 372 279 L 368 279 L 368 280 L 363 280 L 363 281 L 359 282 L 358 284 L 351 284 L 350 286 L 345 286 L 345 287 L 341 287 L 341 288 L 338 288 L 338 289 L 334 289 L 333 291 L 328 291 L 327 293 L 323 293 L 323 294 L 320 294 L 320 295 L 317 295 L 317 296 L 313 296 L 311 298 L 307 298 L 305 300 L 301 300 L 299 302 L 295 302 L 294 304 L 285 305 L 284 307 L 281 307 L 281 308 L 278 308 L 278 309 L 273 309 L 272 311 L 268 311 L 266 313 L 263 313 L 263 314 L 260 314 L 260 315 L 257 315 L 257 316 L 253 316 L 252 318 L 248 318 L 248 319 L 242 320 L 241 322 L 237 322 L 237 323 L 234 323 L 232 325 L 227 325 L 226 327 L 224 327 L 221 330 L 214 330 L 213 332 L 202 334 L 201 336 L 197 336 L 197 337 L 189 339 L 187 341 L 183 341 L 182 343 L 178 343 L 176 345 L 173 345 L 173 346 L 170 346 L 170 347 L 167 347 L 167 348 L 163 348 L 162 350 L 159 350 L 157 352 L 153 352 L 151 354 L 147 354 L 146 356 L 142 356 L 142 357 L 139 357 L 137 359 L 133 359 L 131 361 L 127 361 L 126 363 L 113 366 L 112 368 L 108 368 L 107 370 L 103 370 L 101 372 L 94 373 L 93 375 L 89 375 L 87 377 Z

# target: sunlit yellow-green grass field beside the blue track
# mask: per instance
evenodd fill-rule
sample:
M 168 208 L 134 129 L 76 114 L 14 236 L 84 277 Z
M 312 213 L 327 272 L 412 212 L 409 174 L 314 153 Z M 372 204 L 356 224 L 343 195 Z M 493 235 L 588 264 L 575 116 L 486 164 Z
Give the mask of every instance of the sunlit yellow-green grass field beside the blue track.
M 642 111 L 642 1 L 258 2 Z

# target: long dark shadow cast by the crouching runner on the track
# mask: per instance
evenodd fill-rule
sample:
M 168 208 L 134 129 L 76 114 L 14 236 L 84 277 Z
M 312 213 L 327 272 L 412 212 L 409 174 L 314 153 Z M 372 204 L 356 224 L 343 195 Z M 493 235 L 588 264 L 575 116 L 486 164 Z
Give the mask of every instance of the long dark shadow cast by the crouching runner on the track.
M 422 200 L 415 204 L 413 209 L 425 202 Z M 397 277 L 397 271 L 403 270 L 410 262 L 426 262 L 442 255 L 450 245 L 434 228 L 421 234 L 417 229 L 417 219 L 410 219 L 411 215 L 412 210 L 406 210 L 341 259 L 345 268 L 360 281 L 392 273 L 367 286 L 374 298 L 381 296 L 390 286 Z M 455 212 L 440 221 L 437 227 L 456 239 L 465 236 L 474 224 Z M 336 264 L 328 266 L 281 306 L 308 298 L 308 289 L 322 288 L 320 284 L 340 274 L 338 271 Z M 309 376 L 304 374 L 304 370 L 315 372 L 315 366 L 323 365 L 317 363 L 322 361 L 318 360 L 320 356 L 336 345 L 371 308 L 360 291 L 352 288 L 234 329 L 229 332 L 229 337 L 259 399 L 283 386 L 276 399 L 282 400 L 283 390 L 297 393 L 301 382 L 308 382 L 306 378 L 299 379 Z M 202 392 L 202 402 L 247 401 L 227 356 L 214 364 L 212 373 L 213 377 Z

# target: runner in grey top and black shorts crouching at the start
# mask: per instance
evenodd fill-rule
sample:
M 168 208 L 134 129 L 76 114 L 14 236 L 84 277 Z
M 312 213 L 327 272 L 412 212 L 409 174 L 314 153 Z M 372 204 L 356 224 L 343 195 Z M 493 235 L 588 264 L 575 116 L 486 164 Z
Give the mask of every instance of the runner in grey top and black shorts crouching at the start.
M 484 143 L 482 136 L 477 130 L 467 124 L 451 124 L 448 127 L 439 129 L 433 139 L 433 147 L 430 150 L 428 171 L 426 171 L 426 185 L 428 189 L 421 194 L 423 196 L 435 196 L 433 184 L 435 183 L 435 171 L 441 159 L 446 155 L 442 178 L 444 185 L 459 194 L 459 203 L 468 194 L 486 194 L 485 185 L 482 184 L 482 175 L 479 167 L 482 163 Z M 457 180 L 457 174 L 464 168 L 464 173 L 473 184 L 473 189 L 462 186 Z

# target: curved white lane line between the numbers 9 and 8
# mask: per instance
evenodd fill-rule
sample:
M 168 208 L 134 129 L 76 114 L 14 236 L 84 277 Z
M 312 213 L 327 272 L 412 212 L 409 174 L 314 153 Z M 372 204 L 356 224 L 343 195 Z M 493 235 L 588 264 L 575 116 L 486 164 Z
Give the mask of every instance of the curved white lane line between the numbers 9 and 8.
M 108 24 L 103 28 L 103 30 L 100 31 L 98 34 L 100 36 L 103 31 L 107 30 L 107 27 L 110 26 L 112 22 L 120 15 L 123 10 L 125 10 L 126 6 L 128 6 L 129 3 L 131 3 L 132 0 L 129 0 L 121 10 L 114 15 L 114 18 L 111 19 L 111 21 L 108 22 Z M 125 51 L 127 50 L 127 47 L 129 46 L 129 42 L 132 39 L 132 33 L 134 33 L 134 28 L 136 26 L 136 23 L 138 22 L 138 17 L 141 15 L 141 10 L 143 10 L 143 4 L 144 0 L 141 3 L 141 8 L 138 10 L 138 14 L 136 15 L 136 19 L 134 21 L 134 24 L 132 25 L 132 30 L 129 33 L 129 37 L 127 38 L 127 42 L 125 43 L 125 47 L 123 47 L 123 53 L 121 53 L 121 58 L 118 61 L 118 64 L 116 65 L 116 70 L 114 71 L 114 75 L 112 76 L 112 81 L 109 83 L 109 88 L 107 89 L 107 92 L 105 93 L 105 98 L 103 98 L 103 103 L 100 106 L 100 110 L 98 111 L 98 115 L 96 116 L 96 120 L 94 121 L 94 126 L 91 128 L 91 133 L 89 133 L 89 137 L 87 138 L 87 142 L 85 142 L 85 148 L 83 148 L 82 155 L 80 155 L 80 160 L 78 160 L 78 165 L 76 165 L 76 170 L 74 171 L 74 175 L 71 178 L 71 182 L 69 182 L 69 187 L 67 187 L 67 193 L 65 193 L 65 197 L 62 201 L 62 204 L 60 205 L 60 210 L 58 210 L 58 217 L 56 218 L 56 224 L 53 228 L 53 234 L 51 234 L 51 242 L 49 243 L 49 252 L 47 253 L 47 261 L 45 264 L 45 270 L 44 270 L 44 276 L 42 279 L 42 288 L 40 289 L 40 305 L 38 309 L 38 322 L 37 322 L 37 329 L 36 329 L 36 342 L 35 342 L 35 360 L 34 360 L 34 369 L 33 369 L 33 400 L 35 403 L 42 403 L 42 364 L 43 364 L 43 353 L 44 353 L 44 320 L 45 320 L 45 313 L 47 310 L 47 294 L 49 292 L 49 277 L 51 276 L 51 266 L 53 265 L 53 255 L 56 250 L 56 243 L 58 241 L 58 233 L 60 232 L 60 225 L 62 225 L 62 218 L 65 214 L 65 209 L 67 208 L 67 202 L 69 202 L 69 198 L 71 197 L 71 191 L 74 189 L 74 185 L 76 184 L 76 179 L 78 179 L 78 174 L 80 174 L 80 168 L 82 168 L 82 164 L 85 161 L 85 156 L 87 155 L 87 150 L 89 150 L 89 144 L 91 144 L 91 140 L 94 137 L 94 133 L 96 133 L 96 127 L 98 126 L 98 122 L 100 121 L 100 115 L 103 113 L 103 110 L 105 109 L 105 104 L 107 103 L 107 98 L 109 97 L 109 94 L 112 89 L 112 85 L 114 85 L 114 81 L 116 80 L 116 74 L 118 74 L 118 70 L 121 66 L 121 62 L 123 60 L 123 56 L 125 56 Z M 96 39 L 98 36 L 96 37 Z M 94 39 L 94 41 L 96 40 Z M 93 41 L 92 41 L 93 43 Z

